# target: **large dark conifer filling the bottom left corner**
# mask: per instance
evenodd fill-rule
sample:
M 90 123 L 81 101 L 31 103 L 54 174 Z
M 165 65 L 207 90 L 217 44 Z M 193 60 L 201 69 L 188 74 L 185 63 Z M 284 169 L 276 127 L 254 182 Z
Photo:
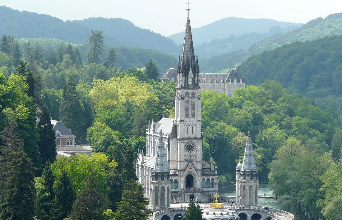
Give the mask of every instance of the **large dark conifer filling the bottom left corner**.
M 15 119 L 9 119 L 1 133 L 5 160 L 5 182 L 1 194 L 0 219 L 32 219 L 34 217 L 34 168 L 24 152 L 24 143 L 17 132 Z

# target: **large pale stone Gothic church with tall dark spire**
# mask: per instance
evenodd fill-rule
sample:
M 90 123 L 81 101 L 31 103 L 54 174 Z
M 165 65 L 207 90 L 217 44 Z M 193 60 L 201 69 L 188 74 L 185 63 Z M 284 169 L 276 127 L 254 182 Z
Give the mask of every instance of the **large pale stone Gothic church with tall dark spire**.
M 203 160 L 201 94 L 189 14 L 178 60 L 175 118 L 149 122 L 146 150 L 138 152 L 136 176 L 152 208 L 211 201 L 218 191 L 217 167 Z

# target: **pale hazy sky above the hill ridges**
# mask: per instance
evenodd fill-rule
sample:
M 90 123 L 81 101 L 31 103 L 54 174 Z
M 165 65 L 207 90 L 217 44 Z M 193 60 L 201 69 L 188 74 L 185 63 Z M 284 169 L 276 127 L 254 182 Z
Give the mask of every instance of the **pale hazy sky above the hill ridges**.
M 48 14 L 62 20 L 121 17 L 136 26 L 169 36 L 183 31 L 187 0 L 0 0 L 12 9 Z M 192 27 L 234 16 L 306 23 L 342 12 L 341 0 L 190 0 Z M 1 22 L 1 21 L 0 21 Z

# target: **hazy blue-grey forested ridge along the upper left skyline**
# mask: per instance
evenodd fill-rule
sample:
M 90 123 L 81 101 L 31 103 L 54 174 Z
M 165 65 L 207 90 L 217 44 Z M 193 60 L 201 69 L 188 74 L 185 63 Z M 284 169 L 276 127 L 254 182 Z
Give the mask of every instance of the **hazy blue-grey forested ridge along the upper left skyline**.
M 15 38 L 56 38 L 72 43 L 87 43 L 91 30 L 102 30 L 110 46 L 134 46 L 178 54 L 173 40 L 148 29 L 136 27 L 121 18 L 89 18 L 66 21 L 45 14 L 18 11 L 0 6 L 0 35 Z

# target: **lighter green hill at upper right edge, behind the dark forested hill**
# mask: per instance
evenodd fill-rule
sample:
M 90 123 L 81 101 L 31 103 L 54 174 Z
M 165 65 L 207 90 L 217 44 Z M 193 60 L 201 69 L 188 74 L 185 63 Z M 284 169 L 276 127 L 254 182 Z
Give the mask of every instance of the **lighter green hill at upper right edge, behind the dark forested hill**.
M 296 41 L 313 41 L 325 36 L 340 35 L 342 32 L 342 13 L 327 16 L 325 19 L 319 17 L 311 20 L 302 27 L 271 36 L 252 45 L 249 51 L 252 54 L 259 54 L 262 51 L 273 49 L 285 43 Z

